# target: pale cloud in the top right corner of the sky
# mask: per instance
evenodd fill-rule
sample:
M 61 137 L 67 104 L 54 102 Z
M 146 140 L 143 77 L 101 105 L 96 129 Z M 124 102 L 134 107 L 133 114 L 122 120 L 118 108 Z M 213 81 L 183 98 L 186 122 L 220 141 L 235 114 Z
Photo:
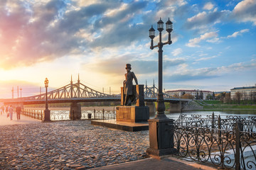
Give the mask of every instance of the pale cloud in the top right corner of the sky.
M 233 17 L 241 22 L 252 22 L 256 25 L 256 1 L 244 0 L 238 3 L 233 10 Z

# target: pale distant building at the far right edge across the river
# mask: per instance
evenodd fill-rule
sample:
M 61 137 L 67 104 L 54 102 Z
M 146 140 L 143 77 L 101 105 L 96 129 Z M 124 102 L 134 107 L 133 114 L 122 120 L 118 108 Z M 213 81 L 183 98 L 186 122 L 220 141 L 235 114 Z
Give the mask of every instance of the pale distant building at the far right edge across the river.
M 232 100 L 237 99 L 238 92 L 240 93 L 240 100 L 253 100 L 256 98 L 256 85 L 230 89 L 230 97 Z

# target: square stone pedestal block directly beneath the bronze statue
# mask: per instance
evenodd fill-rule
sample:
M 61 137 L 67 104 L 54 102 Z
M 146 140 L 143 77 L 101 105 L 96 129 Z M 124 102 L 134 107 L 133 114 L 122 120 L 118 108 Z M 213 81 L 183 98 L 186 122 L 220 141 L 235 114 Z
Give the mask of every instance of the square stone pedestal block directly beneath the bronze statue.
M 117 121 L 139 123 L 149 120 L 147 106 L 119 106 L 116 108 Z

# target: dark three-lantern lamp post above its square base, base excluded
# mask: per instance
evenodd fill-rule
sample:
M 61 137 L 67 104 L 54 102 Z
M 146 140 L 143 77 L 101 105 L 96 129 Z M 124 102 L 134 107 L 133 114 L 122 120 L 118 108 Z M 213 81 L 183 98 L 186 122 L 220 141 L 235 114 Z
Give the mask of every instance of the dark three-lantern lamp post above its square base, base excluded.
M 157 22 L 157 30 L 159 30 L 159 43 L 158 45 L 153 45 L 153 39 L 155 38 L 155 30 L 153 26 L 149 29 L 149 38 L 151 38 L 151 46 L 150 49 L 153 50 L 155 47 L 159 47 L 159 93 L 157 96 L 157 106 L 156 106 L 156 117 L 155 119 L 167 119 L 164 114 L 165 106 L 164 106 L 164 95 L 163 95 L 163 46 L 171 45 L 171 31 L 173 30 L 172 23 L 170 18 L 166 22 L 166 31 L 169 33 L 168 41 L 162 42 L 161 40 L 161 32 L 164 30 L 164 22 L 160 20 Z

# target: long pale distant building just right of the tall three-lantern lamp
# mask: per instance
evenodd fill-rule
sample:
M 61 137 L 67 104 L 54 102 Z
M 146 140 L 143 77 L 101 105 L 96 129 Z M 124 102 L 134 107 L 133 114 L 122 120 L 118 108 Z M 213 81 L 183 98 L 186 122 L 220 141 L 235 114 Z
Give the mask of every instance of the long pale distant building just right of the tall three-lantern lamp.
M 203 100 L 206 100 L 206 96 L 209 94 L 212 96 L 213 91 L 201 91 L 201 90 L 175 90 L 175 91 L 165 91 L 166 94 L 170 96 L 181 98 L 184 94 L 191 94 L 196 99 L 196 96 L 200 96 L 203 93 Z

